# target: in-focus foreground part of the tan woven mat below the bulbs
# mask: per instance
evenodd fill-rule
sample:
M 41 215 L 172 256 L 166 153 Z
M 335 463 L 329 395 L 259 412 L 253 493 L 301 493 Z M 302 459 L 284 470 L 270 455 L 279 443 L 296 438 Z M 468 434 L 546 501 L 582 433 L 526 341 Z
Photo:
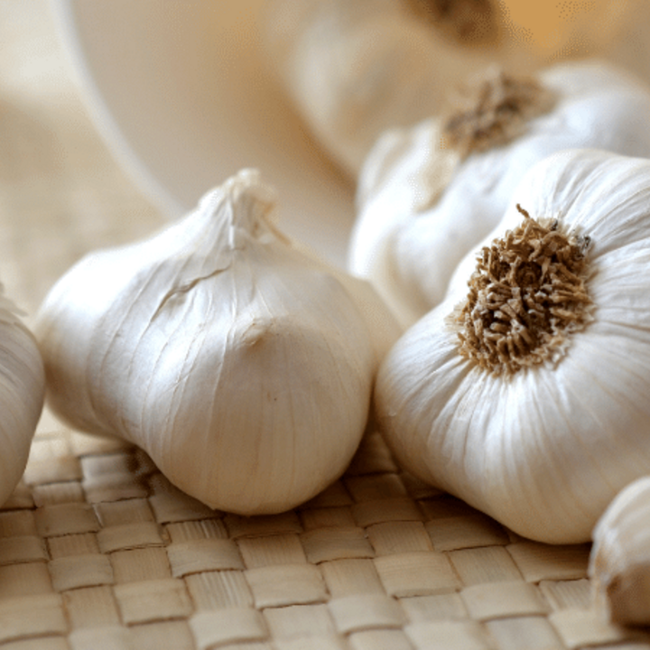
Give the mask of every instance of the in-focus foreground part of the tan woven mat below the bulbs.
M 548 546 L 400 472 L 369 432 L 282 515 L 215 512 L 141 450 L 40 431 L 0 511 L 0 648 L 640 650 Z

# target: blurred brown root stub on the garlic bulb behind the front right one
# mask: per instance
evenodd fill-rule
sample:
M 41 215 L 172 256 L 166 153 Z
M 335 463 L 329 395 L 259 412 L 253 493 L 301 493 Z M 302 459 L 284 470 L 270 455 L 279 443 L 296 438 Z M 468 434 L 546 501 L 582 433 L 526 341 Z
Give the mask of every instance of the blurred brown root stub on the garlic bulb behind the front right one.
M 507 144 L 525 124 L 550 111 L 555 95 L 535 79 L 519 79 L 489 70 L 469 92 L 465 105 L 446 119 L 442 142 L 463 156 Z

